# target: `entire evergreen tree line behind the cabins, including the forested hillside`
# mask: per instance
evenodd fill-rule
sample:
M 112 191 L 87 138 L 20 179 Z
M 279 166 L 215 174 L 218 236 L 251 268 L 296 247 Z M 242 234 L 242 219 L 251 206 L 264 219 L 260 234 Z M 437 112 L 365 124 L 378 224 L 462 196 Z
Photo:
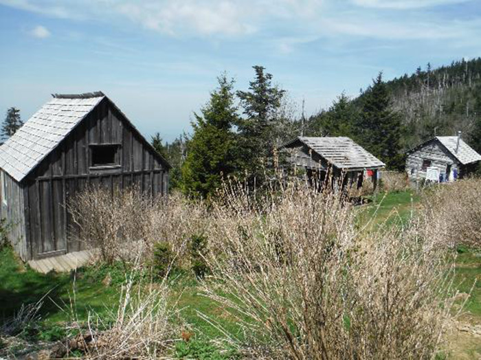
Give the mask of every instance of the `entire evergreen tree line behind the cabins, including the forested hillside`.
M 307 118 L 289 103 L 287 91 L 273 83 L 265 67 L 256 65 L 247 89 L 221 74 L 206 104 L 193 113 L 192 133 L 151 142 L 172 165 L 170 188 L 206 198 L 223 178 L 254 183 L 265 179 L 274 153 L 298 135 L 346 136 L 383 161 L 403 170 L 404 154 L 434 135 L 461 130 L 481 152 L 481 58 L 432 69 L 388 82 L 382 72 L 357 98 L 341 93 L 328 108 Z M 1 126 L 7 139 L 23 124 L 19 109 L 8 109 Z

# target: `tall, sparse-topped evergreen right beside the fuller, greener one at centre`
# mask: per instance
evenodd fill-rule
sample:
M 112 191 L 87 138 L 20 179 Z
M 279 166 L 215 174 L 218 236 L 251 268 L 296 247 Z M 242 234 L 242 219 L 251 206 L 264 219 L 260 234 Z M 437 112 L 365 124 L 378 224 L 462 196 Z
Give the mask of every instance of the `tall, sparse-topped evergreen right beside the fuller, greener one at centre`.
M 285 91 L 272 85 L 272 75 L 265 67 L 254 66 L 256 77 L 249 82 L 249 91 L 237 91 L 245 117 L 237 122 L 242 168 L 249 177 L 262 172 L 262 164 L 269 166 L 276 146 L 276 126 Z

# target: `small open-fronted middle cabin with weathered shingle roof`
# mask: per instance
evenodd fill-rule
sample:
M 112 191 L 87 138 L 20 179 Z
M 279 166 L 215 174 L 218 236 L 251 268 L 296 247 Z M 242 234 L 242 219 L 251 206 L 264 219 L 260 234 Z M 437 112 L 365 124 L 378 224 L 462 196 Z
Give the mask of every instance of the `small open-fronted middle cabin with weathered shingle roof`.
M 360 188 L 364 177 L 377 185 L 378 172 L 385 164 L 349 137 L 296 137 L 281 146 L 288 161 L 306 171 L 311 185 L 322 188 Z

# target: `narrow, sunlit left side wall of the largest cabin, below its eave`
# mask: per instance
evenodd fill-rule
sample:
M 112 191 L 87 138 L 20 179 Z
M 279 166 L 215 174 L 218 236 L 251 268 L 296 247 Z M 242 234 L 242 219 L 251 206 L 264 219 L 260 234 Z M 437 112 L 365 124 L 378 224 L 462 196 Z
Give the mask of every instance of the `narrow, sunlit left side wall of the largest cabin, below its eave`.
M 3 172 L 3 170 L 0 170 Z M 30 248 L 27 246 L 25 227 L 25 203 L 23 201 L 23 188 L 10 175 L 3 172 L 5 177 L 7 205 L 0 200 L 1 218 L 5 218 L 8 226 L 8 240 L 12 243 L 16 254 L 22 260 L 30 258 Z M 1 185 L 1 184 L 0 184 Z

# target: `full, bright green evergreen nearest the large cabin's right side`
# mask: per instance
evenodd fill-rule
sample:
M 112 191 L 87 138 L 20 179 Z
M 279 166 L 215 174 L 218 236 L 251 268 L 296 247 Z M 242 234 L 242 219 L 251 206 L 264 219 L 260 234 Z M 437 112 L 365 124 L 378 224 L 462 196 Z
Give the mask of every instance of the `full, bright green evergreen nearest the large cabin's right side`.
M 210 94 L 210 101 L 194 113 L 194 135 L 182 166 L 183 191 L 203 198 L 212 196 L 222 177 L 235 170 L 236 139 L 232 126 L 238 118 L 234 106 L 234 80 L 223 74 L 219 87 Z

